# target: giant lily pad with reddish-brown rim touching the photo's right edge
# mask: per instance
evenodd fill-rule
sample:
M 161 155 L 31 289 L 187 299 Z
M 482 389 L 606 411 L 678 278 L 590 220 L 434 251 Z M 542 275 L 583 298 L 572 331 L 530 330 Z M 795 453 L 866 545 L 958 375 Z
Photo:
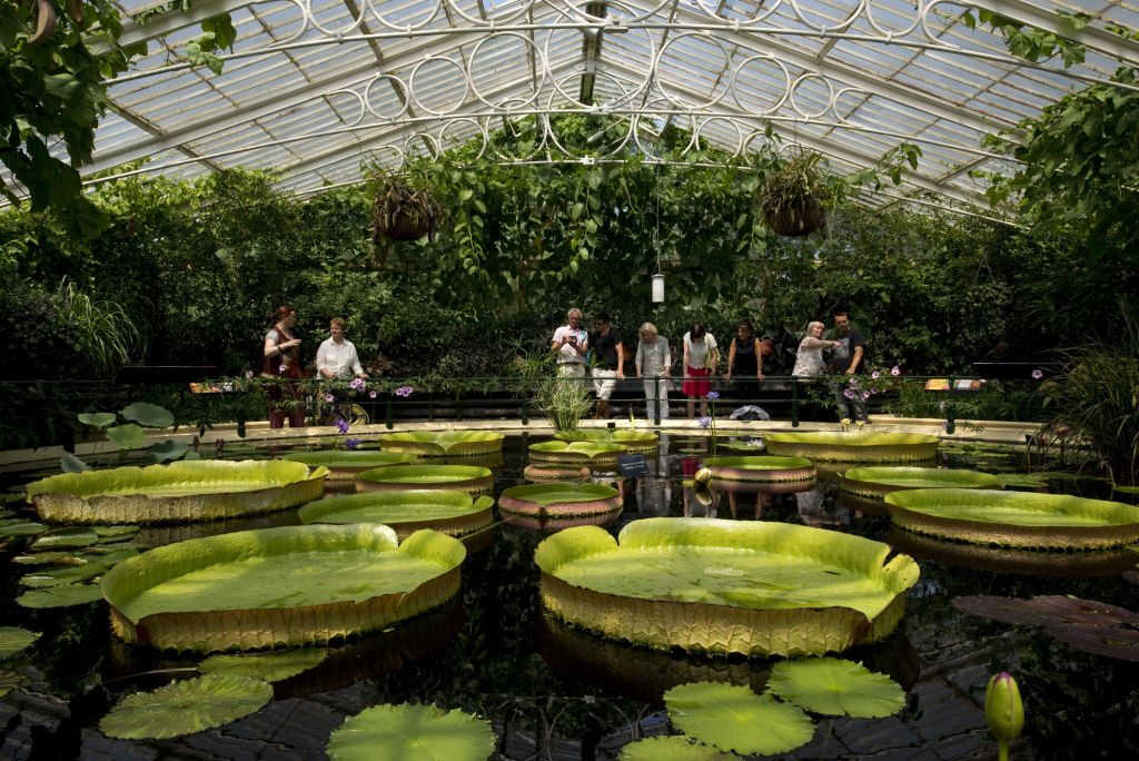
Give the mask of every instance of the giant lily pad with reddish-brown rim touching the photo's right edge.
M 886 494 L 895 525 L 1007 547 L 1087 549 L 1139 541 L 1139 507 L 1068 494 L 912 489 Z

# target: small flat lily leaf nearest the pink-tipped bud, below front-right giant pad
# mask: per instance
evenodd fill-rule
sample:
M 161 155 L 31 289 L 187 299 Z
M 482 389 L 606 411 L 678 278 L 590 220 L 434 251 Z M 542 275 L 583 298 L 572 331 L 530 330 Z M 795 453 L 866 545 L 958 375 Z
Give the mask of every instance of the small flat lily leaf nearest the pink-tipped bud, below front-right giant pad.
M 842 658 L 777 663 L 768 689 L 808 711 L 829 715 L 879 719 L 906 706 L 906 693 L 898 682 Z

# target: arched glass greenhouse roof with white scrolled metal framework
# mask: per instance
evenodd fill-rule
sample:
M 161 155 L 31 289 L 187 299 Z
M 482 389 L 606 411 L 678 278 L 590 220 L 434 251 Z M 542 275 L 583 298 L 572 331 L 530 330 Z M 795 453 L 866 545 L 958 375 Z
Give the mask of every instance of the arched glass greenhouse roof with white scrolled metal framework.
M 124 17 L 163 3 L 117 0 Z M 990 10 L 1085 46 L 1058 59 L 1013 58 L 1005 40 L 962 17 Z M 237 30 L 224 68 L 182 58 L 203 18 Z M 1075 30 L 1062 14 L 1091 17 Z M 663 120 L 729 150 L 763 141 L 827 155 L 837 171 L 875 164 L 901 142 L 917 170 L 880 205 L 933 193 L 985 213 L 980 172 L 1015 164 L 980 147 L 1066 92 L 1139 64 L 1132 0 L 196 0 L 124 24 L 148 52 L 108 83 L 87 177 L 146 159 L 141 172 L 197 177 L 273 170 L 311 195 L 359 181 L 363 159 L 396 164 L 555 111 Z M 55 146 L 57 153 L 62 146 Z M 548 136 L 532 161 L 563 161 Z M 97 181 L 92 181 L 95 183 Z

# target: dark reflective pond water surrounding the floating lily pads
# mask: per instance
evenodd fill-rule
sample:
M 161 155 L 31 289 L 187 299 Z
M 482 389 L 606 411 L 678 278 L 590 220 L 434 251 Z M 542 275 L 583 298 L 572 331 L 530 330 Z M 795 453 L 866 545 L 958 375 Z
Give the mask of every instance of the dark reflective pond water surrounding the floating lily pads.
M 510 437 L 497 464 L 495 489 L 524 483 L 525 445 Z M 310 443 L 308 445 L 316 445 Z M 649 457 L 653 475 L 617 481 L 624 512 L 608 526 L 647 516 L 708 516 L 782 521 L 888 541 L 916 557 L 921 580 L 906 617 L 885 643 L 845 654 L 890 673 L 909 692 L 906 711 L 890 719 L 822 719 L 813 742 L 788 758 L 973 759 L 995 745 L 982 711 L 988 676 L 1007 669 L 1024 693 L 1025 737 L 1014 758 L 1139 756 L 1139 664 L 1091 655 L 1030 627 L 965 615 L 950 605 L 962 595 L 1073 595 L 1139 609 L 1133 570 L 1139 555 L 999 554 L 916 540 L 888 521 L 836 500 L 833 484 L 794 494 L 697 494 L 682 484 L 706 442 L 664 436 Z M 280 450 L 277 450 L 280 451 Z M 265 457 L 228 447 L 228 458 Z M 1013 451 L 956 445 L 952 467 L 1024 469 Z M 36 474 L 8 474 L 15 488 Z M 615 475 L 601 476 L 616 480 Z M 1019 486 L 1027 488 L 1027 486 Z M 1060 475 L 1036 486 L 1107 498 L 1101 481 Z M 1133 501 L 1125 494 L 1115 499 Z M 26 510 L 19 502 L 10 509 Z M 257 518 L 214 530 L 296 523 L 295 515 Z M 190 535 L 185 527 L 144 530 L 156 545 Z M 640 736 L 669 731 L 662 693 L 698 680 L 762 690 L 770 661 L 664 654 L 598 639 L 542 614 L 533 550 L 549 527 L 498 523 L 470 542 L 462 592 L 443 609 L 372 637 L 331 648 L 317 669 L 274 688 L 274 701 L 224 727 L 167 742 L 105 737 L 98 721 L 122 696 L 192 676 L 196 661 L 117 641 L 105 603 L 33 611 L 15 604 L 26 566 L 11 562 L 19 541 L 0 556 L 0 625 L 42 632 L 30 649 L 0 664 L 23 684 L 0 698 L 0 756 L 10 759 L 321 759 L 345 717 L 377 703 L 429 702 L 491 719 L 506 759 L 612 759 Z M 1130 579 L 1123 576 L 1131 571 Z M 2 679 L 3 674 L 0 674 Z

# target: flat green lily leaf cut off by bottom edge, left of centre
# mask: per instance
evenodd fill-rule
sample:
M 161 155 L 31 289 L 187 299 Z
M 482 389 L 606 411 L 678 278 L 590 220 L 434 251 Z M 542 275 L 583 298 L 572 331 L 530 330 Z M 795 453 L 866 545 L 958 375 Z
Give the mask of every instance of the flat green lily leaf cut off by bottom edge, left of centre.
M 361 761 L 486 761 L 489 721 L 434 705 L 377 705 L 350 717 L 328 738 L 328 756 Z

